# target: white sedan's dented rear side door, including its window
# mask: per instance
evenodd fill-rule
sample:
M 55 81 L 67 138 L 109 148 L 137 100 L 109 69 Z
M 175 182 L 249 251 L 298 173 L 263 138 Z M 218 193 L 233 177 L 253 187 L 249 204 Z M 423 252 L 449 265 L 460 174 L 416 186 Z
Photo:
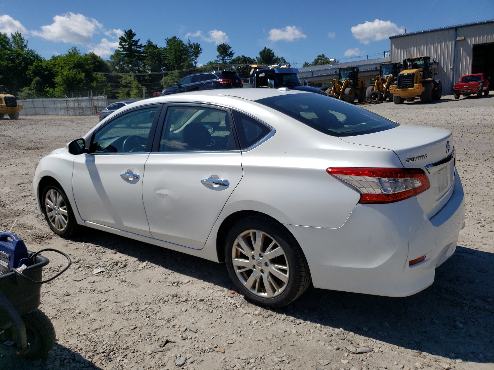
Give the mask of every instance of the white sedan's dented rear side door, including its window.
M 201 249 L 242 179 L 228 110 L 170 105 L 145 165 L 143 199 L 154 238 Z

